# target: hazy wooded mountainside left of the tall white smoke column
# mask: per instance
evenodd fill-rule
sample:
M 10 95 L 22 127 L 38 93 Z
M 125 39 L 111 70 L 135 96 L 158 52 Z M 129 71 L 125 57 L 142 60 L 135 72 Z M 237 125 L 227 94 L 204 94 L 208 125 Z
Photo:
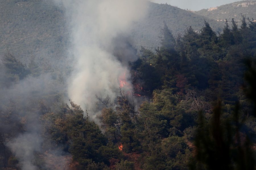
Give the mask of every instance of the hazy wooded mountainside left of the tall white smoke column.
M 51 0 L 3 0 L 0 14 L 0 55 L 9 50 L 24 63 L 62 61 L 69 33 L 64 11 Z

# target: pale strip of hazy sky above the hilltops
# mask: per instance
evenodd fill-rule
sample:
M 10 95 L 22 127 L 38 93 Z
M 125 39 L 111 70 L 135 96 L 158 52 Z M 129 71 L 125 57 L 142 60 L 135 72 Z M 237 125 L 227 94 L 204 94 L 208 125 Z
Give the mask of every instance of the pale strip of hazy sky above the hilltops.
M 177 6 L 181 9 L 189 9 L 198 11 L 210 7 L 217 7 L 227 3 L 237 2 L 240 0 L 151 0 L 155 3 L 168 3 L 172 6 Z

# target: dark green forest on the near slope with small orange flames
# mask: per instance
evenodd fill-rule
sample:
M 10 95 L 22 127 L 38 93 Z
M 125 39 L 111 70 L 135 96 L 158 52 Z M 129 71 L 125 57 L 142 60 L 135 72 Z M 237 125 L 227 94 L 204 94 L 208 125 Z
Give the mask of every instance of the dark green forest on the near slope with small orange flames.
M 61 169 L 255 169 L 256 22 L 241 23 L 177 36 L 164 24 L 161 46 L 129 63 L 133 95 L 96 96 L 96 119 L 63 100 L 65 75 L 6 52 L 0 167 L 56 169 L 52 156 Z

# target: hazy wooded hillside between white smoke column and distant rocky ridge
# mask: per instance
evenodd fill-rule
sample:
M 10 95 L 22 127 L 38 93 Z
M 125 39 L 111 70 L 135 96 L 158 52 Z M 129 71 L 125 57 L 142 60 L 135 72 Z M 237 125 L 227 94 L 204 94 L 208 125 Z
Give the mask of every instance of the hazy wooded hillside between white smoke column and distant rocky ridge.
M 221 32 L 224 23 L 216 22 L 201 15 L 191 13 L 171 5 L 149 3 L 147 17 L 135 24 L 133 38 L 137 47 L 155 48 L 160 46 L 160 30 L 166 22 L 174 35 L 183 34 L 188 26 L 194 30 L 201 30 L 204 19 L 210 23 L 215 32 Z

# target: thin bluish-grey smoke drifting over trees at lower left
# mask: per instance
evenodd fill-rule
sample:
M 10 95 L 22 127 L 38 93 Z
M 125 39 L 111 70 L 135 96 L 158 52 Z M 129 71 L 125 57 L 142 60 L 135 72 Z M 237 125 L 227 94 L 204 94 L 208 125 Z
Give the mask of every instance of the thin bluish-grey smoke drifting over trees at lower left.
M 4 78 L 5 81 L 8 80 Z M 61 89 L 65 88 L 57 83 L 50 73 L 38 77 L 28 76 L 9 87 L 1 86 L 1 116 L 7 117 L 9 112 L 12 113 L 10 118 L 3 119 L 4 122 L 1 120 L 1 123 L 5 123 L 0 124 L 0 130 L 3 130 L 1 135 L 15 136 L 5 142 L 18 159 L 22 170 L 38 169 L 34 165 L 34 158 L 36 152 L 42 151 L 43 142 L 41 136 L 43 128 L 40 123 L 42 112 L 38 105 L 44 101 L 51 107 L 51 103 L 57 101 L 55 94 Z

